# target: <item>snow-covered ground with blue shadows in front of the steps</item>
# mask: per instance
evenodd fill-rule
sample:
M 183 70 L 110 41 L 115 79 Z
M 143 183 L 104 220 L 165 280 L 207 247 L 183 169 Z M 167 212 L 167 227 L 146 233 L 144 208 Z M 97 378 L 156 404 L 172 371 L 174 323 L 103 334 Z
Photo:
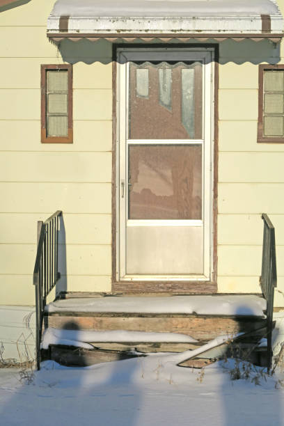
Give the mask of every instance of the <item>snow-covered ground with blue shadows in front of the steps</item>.
M 19 370 L 2 369 L 1 425 L 284 425 L 281 371 L 265 380 L 257 369 L 232 380 L 234 360 L 191 370 L 168 359 L 155 354 L 88 368 L 46 361 L 30 384 Z M 242 374 L 250 369 L 239 367 Z

